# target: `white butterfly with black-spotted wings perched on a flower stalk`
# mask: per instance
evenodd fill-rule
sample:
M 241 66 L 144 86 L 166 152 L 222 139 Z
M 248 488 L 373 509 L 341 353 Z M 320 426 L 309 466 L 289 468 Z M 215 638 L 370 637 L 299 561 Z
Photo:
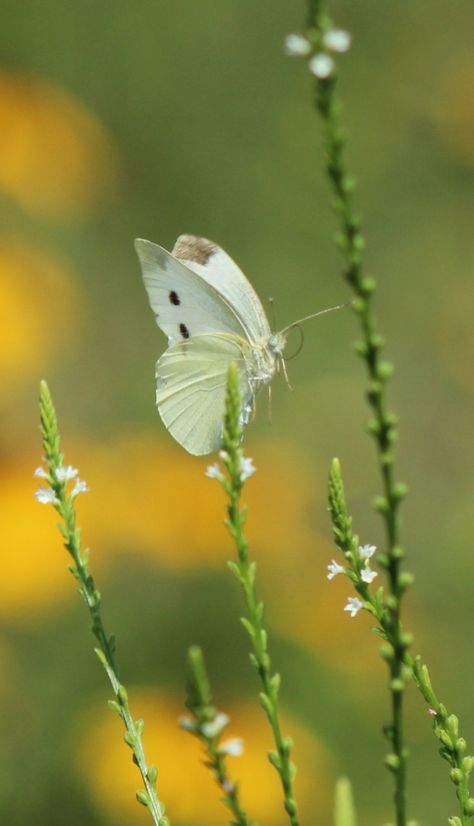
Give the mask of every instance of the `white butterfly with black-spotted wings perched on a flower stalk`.
M 156 323 L 168 337 L 156 364 L 158 412 L 189 453 L 212 453 L 221 444 L 229 365 L 237 366 L 247 424 L 259 390 L 280 369 L 286 376 L 283 350 L 294 325 L 272 333 L 243 272 L 206 238 L 180 235 L 171 253 L 137 239 L 135 249 Z

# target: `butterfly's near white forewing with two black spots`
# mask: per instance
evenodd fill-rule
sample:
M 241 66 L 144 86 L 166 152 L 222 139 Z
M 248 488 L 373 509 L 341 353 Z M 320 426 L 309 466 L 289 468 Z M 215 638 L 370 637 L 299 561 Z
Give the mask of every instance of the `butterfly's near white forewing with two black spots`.
M 135 249 L 156 322 L 169 344 L 214 332 L 246 337 L 225 295 L 205 277 L 151 241 L 137 239 Z

